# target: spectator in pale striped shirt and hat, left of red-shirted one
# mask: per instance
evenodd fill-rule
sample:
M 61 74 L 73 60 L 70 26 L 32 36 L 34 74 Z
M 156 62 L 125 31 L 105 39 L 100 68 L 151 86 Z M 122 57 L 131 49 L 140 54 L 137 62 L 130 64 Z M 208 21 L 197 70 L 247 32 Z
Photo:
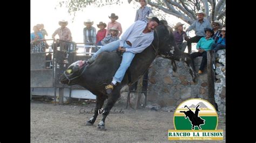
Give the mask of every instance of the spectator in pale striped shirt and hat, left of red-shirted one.
M 84 43 L 87 42 L 91 42 L 93 44 L 96 44 L 96 28 L 93 27 L 93 22 L 91 21 L 91 19 L 87 19 L 86 22 L 84 22 L 84 25 L 86 27 L 84 27 L 83 33 L 84 33 Z M 85 49 L 86 52 L 90 52 L 90 47 L 87 47 L 89 45 L 93 45 L 93 44 L 85 44 Z M 97 50 L 93 47 L 91 49 L 92 53 L 97 52 Z

